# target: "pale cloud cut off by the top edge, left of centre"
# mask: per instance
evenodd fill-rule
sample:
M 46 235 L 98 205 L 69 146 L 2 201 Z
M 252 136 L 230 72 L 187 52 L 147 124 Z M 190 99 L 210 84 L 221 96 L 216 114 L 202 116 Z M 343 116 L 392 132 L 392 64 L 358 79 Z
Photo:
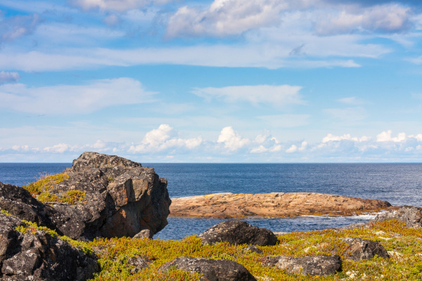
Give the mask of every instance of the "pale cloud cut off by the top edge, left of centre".
M 99 9 L 101 11 L 124 12 L 150 4 L 166 4 L 170 1 L 172 0 L 70 0 L 70 3 L 83 10 Z

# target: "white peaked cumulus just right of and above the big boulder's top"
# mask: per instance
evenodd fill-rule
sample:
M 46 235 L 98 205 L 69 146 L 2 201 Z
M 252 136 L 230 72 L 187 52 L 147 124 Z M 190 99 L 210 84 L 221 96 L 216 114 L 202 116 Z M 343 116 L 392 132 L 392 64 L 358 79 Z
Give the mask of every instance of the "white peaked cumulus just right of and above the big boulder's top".
M 158 129 L 153 129 L 146 133 L 142 142 L 138 145 L 131 145 L 129 152 L 134 153 L 154 153 L 163 150 L 173 150 L 187 148 L 192 150 L 203 143 L 203 138 L 179 138 L 177 131 L 175 131 L 168 124 L 161 124 Z

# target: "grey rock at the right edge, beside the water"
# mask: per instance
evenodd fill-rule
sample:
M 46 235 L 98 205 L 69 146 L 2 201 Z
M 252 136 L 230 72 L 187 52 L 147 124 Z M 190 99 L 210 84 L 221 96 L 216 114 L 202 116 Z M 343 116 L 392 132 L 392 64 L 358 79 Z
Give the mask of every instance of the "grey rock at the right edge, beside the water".
M 372 222 L 390 221 L 397 219 L 406 223 L 408 228 L 421 228 L 422 227 L 422 208 L 413 206 L 404 206 L 397 211 L 388 211 L 379 214 Z

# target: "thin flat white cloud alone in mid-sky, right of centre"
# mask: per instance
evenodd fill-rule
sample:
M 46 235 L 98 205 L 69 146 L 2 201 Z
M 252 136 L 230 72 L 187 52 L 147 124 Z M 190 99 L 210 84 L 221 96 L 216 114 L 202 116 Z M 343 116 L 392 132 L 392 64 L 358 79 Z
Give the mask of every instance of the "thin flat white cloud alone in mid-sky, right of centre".
M 203 98 L 220 98 L 227 103 L 248 101 L 254 105 L 260 103 L 285 106 L 304 103 L 299 94 L 301 86 L 227 86 L 223 88 L 196 88 L 192 93 Z

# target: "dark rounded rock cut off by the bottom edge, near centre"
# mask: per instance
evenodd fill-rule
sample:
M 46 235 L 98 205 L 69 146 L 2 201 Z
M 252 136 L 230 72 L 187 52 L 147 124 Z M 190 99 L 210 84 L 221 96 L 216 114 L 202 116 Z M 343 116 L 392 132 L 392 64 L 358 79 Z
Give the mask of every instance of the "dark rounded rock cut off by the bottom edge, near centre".
M 202 274 L 203 277 L 200 278 L 200 281 L 256 281 L 255 277 L 244 266 L 235 261 L 179 256 L 165 263 L 160 270 L 165 271 L 172 266 Z

